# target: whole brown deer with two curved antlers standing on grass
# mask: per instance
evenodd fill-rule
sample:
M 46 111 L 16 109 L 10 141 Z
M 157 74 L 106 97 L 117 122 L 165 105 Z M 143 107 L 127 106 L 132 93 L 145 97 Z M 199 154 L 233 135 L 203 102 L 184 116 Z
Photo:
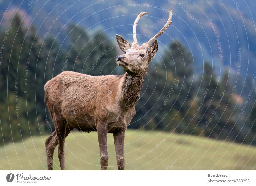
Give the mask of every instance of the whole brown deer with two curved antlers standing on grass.
M 97 131 L 101 170 L 107 170 L 107 133 L 112 133 L 117 167 L 124 170 L 125 132 L 136 113 L 135 105 L 149 63 L 158 50 L 156 38 L 172 23 L 172 11 L 168 12 L 164 27 L 141 46 L 136 27 L 141 16 L 148 12 L 141 12 L 134 21 L 132 45 L 116 35 L 119 48 L 124 52 L 116 58 L 118 66 L 125 71 L 123 75 L 91 76 L 63 71 L 44 85 L 46 106 L 55 127 L 45 141 L 48 170 L 53 170 L 53 153 L 57 145 L 60 168 L 65 170 L 65 138 L 73 129 L 88 133 Z

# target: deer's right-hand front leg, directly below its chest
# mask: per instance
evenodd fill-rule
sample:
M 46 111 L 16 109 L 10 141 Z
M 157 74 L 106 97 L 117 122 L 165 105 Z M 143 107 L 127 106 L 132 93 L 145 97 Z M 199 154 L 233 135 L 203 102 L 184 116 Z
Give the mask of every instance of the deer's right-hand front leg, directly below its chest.
M 114 143 L 115 143 L 115 151 L 116 151 L 116 162 L 118 170 L 124 170 L 124 137 L 125 137 L 125 131 L 114 133 Z

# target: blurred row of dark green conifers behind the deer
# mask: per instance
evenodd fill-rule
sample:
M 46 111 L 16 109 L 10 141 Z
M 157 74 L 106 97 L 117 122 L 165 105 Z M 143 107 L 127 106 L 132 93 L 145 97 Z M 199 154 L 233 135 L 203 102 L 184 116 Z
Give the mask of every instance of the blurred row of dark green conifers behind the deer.
M 53 35 L 44 38 L 36 33 L 33 25 L 24 27 L 18 15 L 0 32 L 1 145 L 54 131 L 44 84 L 60 72 L 124 73 L 115 62 L 121 52 L 116 41 L 100 31 L 89 35 L 83 27 L 70 24 L 65 46 Z M 150 63 L 129 128 L 256 144 L 252 78 L 246 78 L 243 86 L 252 94 L 241 114 L 247 95 L 236 93 L 242 87 L 239 83 L 234 91 L 230 71 L 216 75 L 210 62 L 196 63 L 174 39 L 160 54 Z

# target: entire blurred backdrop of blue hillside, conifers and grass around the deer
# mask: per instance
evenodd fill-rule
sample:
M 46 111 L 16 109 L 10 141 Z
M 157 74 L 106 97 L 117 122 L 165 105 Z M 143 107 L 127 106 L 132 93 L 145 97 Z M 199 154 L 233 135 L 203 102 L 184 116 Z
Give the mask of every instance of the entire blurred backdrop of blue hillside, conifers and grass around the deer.
M 124 74 L 116 34 L 132 43 L 133 22 L 148 11 L 137 26 L 142 44 L 172 10 L 128 127 L 126 169 L 255 170 L 255 9 L 234 0 L 0 0 L 0 169 L 46 169 L 48 80 L 66 70 Z M 66 161 L 100 170 L 97 134 L 72 132 Z

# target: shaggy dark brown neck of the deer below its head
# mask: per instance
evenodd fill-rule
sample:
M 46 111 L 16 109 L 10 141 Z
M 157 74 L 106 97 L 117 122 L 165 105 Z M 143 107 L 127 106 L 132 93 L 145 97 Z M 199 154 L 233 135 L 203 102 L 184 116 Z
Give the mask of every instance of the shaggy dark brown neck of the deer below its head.
M 118 92 L 118 105 L 122 109 L 129 109 L 137 103 L 140 98 L 145 75 L 146 72 L 145 74 L 131 74 L 127 72 L 124 74 Z

